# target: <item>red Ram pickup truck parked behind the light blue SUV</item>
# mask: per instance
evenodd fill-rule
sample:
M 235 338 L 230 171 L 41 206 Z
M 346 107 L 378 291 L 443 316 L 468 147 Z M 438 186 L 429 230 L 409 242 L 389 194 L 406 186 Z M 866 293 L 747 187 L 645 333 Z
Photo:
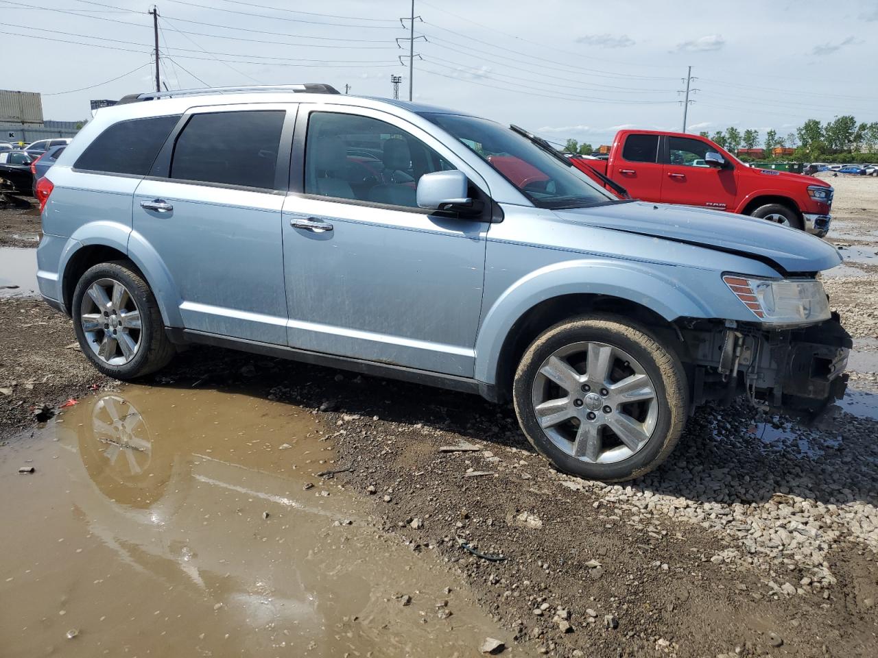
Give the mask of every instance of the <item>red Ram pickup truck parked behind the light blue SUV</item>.
M 832 188 L 811 176 L 748 167 L 709 139 L 681 132 L 617 132 L 608 160 L 572 164 L 622 185 L 633 198 L 738 212 L 824 237 Z

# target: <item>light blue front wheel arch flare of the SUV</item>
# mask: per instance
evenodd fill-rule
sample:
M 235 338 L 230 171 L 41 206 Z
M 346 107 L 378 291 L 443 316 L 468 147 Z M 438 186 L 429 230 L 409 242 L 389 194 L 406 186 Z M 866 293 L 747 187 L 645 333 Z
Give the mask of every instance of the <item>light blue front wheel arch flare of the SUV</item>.
M 496 383 L 503 343 L 515 322 L 527 311 L 554 297 L 583 294 L 621 297 L 655 311 L 668 321 L 680 317 L 716 317 L 716 309 L 705 299 L 681 284 L 679 278 L 671 278 L 654 266 L 646 268 L 634 261 L 598 259 L 554 263 L 513 283 L 487 311 L 476 338 L 476 379 Z

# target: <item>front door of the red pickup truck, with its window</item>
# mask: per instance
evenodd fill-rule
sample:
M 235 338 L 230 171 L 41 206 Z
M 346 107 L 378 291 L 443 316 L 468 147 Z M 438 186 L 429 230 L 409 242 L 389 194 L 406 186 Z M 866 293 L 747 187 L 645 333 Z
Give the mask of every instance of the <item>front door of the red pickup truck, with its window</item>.
M 688 137 L 667 137 L 663 154 L 665 182 L 662 202 L 666 204 L 698 205 L 716 210 L 736 207 L 738 175 L 733 162 L 724 168 L 696 164 L 703 162 L 716 147 L 707 141 Z

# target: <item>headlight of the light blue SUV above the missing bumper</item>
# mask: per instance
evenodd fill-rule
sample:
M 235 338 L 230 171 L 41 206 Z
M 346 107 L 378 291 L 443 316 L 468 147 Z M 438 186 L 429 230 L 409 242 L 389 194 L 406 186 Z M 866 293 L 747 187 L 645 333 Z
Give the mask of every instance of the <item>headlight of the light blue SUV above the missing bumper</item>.
M 723 281 L 763 323 L 802 325 L 829 319 L 823 283 L 813 279 L 759 279 L 725 275 Z

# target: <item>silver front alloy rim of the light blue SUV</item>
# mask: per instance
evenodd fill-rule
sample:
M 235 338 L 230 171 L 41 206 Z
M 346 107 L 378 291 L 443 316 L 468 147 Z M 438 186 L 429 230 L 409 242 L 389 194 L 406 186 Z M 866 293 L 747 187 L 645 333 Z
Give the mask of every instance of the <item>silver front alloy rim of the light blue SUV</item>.
M 531 402 L 551 442 L 588 463 L 628 459 L 651 439 L 659 418 L 656 386 L 644 367 L 601 342 L 552 353 L 534 377 Z

